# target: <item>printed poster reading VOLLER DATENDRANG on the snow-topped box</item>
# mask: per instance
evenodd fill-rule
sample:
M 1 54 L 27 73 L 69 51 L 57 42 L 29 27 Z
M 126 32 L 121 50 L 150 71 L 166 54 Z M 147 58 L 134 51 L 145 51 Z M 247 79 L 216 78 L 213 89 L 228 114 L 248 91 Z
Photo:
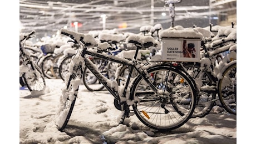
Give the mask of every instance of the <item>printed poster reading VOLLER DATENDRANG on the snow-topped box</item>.
M 198 39 L 163 39 L 163 61 L 200 61 L 200 45 Z

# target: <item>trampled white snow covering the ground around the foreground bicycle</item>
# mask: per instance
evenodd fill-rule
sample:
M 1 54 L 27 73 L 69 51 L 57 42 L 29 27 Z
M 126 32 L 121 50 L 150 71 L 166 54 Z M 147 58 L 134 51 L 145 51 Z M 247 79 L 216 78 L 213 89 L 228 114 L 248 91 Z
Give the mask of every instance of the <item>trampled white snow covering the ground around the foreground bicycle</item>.
M 135 115 L 119 125 L 121 111 L 109 92 L 90 92 L 83 84 L 70 121 L 60 132 L 53 120 L 65 84 L 62 79 L 46 79 L 46 84 L 42 94 L 19 90 L 19 143 L 237 143 L 235 115 L 211 113 L 170 132 L 152 130 Z

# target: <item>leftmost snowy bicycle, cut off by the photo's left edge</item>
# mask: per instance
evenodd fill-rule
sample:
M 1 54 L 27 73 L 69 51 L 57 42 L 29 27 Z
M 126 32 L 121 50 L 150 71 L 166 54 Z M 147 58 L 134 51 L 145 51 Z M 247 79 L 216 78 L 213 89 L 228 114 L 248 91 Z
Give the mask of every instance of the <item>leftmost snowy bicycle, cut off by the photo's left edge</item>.
M 29 52 L 24 49 L 27 39 L 34 37 L 36 32 L 20 35 L 19 38 L 19 83 L 27 86 L 29 91 L 42 91 L 46 88 L 45 78 Z

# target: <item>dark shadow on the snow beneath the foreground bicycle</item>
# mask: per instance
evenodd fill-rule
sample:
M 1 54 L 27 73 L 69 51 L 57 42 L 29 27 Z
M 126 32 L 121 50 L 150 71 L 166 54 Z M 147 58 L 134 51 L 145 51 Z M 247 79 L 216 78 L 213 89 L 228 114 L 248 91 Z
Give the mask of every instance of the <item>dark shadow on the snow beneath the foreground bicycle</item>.
M 180 135 L 185 135 L 185 133 L 187 132 L 193 132 L 193 128 L 187 128 L 187 127 L 180 127 L 177 128 L 175 130 L 171 130 L 171 131 L 157 131 L 157 130 L 152 130 L 149 127 L 146 126 L 138 126 L 138 127 L 134 127 L 131 125 L 127 125 L 126 130 L 124 131 L 122 128 L 119 130 L 117 130 L 115 127 L 117 126 L 110 126 L 110 125 L 101 125 L 99 124 L 98 126 L 90 126 L 89 125 L 85 125 L 82 124 L 80 122 L 77 121 L 69 121 L 66 128 L 64 129 L 64 132 L 67 133 L 67 135 L 71 136 L 71 137 L 75 137 L 75 136 L 83 136 L 86 138 L 86 140 L 89 140 L 91 143 L 103 143 L 103 142 L 107 142 L 107 143 L 116 143 L 120 141 L 119 136 L 116 136 L 116 134 L 113 133 L 120 133 L 119 135 L 130 135 L 129 137 L 123 137 L 122 141 L 129 141 L 131 138 L 133 141 L 135 142 L 143 142 L 143 138 L 138 137 L 140 134 L 136 134 L 136 133 L 141 133 L 144 132 L 147 135 L 149 131 L 152 131 L 152 133 L 154 133 L 154 135 L 150 136 L 150 137 L 162 137 L 162 136 L 168 136 L 168 135 L 172 135 L 172 134 L 179 134 Z M 112 128 L 114 128 L 112 130 Z M 110 131 L 109 131 L 110 130 Z M 102 133 L 111 133 L 113 132 L 111 135 L 104 135 Z

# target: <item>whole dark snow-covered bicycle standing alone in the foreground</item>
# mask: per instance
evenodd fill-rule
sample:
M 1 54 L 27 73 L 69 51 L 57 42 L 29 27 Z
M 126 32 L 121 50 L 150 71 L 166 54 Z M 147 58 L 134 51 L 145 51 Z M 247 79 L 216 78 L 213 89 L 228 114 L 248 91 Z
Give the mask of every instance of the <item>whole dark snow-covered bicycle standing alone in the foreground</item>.
M 196 88 L 189 74 L 179 65 L 155 62 L 139 64 L 136 61 L 139 49 L 154 45 L 155 39 L 151 36 L 130 35 L 126 39 L 137 47 L 134 59 L 129 61 L 90 49 L 93 47 L 104 51 L 109 47 L 107 43 L 97 43 L 90 34 L 67 29 L 61 29 L 61 34 L 72 38 L 76 44 L 80 43 L 82 48 L 72 58 L 70 71 L 65 79 L 66 88 L 62 91 L 61 104 L 55 119 L 58 130 L 63 131 L 70 119 L 85 67 L 114 96 L 116 109 L 123 112 L 120 124 L 130 117 L 130 106 L 144 125 L 159 131 L 173 130 L 183 126 L 190 119 L 195 109 Z M 129 75 L 126 84 L 118 86 L 116 80 L 111 81 L 102 75 L 95 64 L 87 59 L 86 54 L 131 66 L 131 72 L 136 70 L 138 75 L 134 79 L 130 79 Z

